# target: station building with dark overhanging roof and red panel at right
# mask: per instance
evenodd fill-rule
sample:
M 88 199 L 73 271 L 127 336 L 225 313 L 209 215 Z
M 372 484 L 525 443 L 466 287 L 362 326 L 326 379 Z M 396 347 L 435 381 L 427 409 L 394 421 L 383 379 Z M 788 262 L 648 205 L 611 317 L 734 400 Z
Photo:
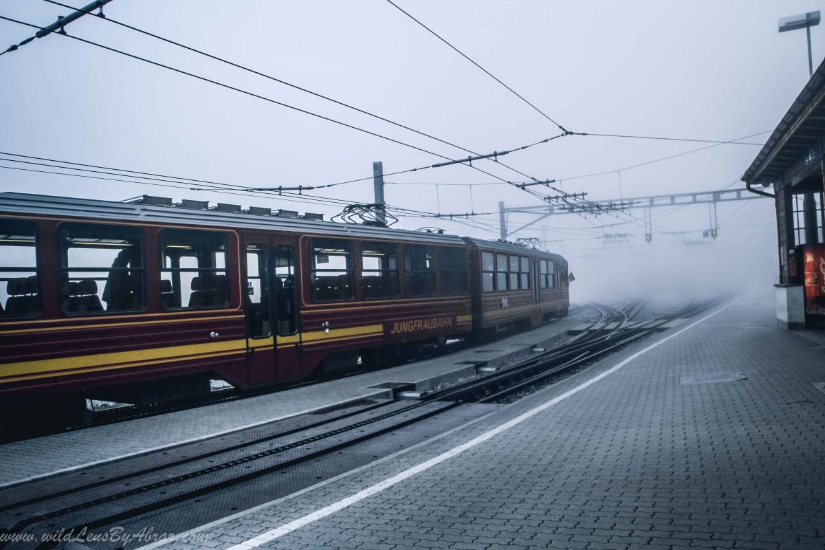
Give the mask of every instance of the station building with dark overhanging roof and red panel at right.
M 825 61 L 747 168 L 747 189 L 776 208 L 776 319 L 789 329 L 825 327 Z M 772 192 L 771 192 L 772 187 Z

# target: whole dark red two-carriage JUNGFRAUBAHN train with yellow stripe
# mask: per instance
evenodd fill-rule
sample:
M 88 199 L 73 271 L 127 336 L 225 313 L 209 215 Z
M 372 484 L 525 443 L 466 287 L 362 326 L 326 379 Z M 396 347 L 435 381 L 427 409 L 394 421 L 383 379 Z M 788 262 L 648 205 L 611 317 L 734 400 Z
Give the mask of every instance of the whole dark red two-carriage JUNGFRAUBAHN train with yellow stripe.
M 254 388 L 568 309 L 555 254 L 207 207 L 0 193 L 0 400 Z

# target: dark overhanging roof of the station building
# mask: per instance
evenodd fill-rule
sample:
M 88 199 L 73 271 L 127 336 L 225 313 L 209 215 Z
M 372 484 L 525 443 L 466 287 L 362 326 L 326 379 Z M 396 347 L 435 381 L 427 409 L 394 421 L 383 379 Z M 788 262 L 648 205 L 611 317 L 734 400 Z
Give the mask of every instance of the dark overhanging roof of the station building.
M 782 176 L 805 157 L 819 161 L 818 143 L 825 131 L 825 60 L 813 72 L 757 157 L 747 168 L 742 181 L 778 183 Z M 813 151 L 813 153 L 812 153 Z M 790 183 L 790 182 L 784 182 Z

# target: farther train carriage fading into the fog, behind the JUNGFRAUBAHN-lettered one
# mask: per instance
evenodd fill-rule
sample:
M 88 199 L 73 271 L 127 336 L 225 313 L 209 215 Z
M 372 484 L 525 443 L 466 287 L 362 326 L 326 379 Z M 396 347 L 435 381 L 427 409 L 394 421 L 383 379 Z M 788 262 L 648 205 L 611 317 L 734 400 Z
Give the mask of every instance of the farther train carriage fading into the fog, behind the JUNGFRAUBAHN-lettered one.
M 568 264 L 562 256 L 508 242 L 469 237 L 464 242 L 470 247 L 474 332 L 535 327 L 567 315 Z

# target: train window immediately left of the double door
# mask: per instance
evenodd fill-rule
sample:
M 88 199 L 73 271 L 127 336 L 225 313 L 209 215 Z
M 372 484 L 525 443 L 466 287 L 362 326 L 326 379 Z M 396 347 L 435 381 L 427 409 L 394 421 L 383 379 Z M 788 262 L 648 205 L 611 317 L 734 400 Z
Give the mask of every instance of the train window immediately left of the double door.
M 160 247 L 164 309 L 226 307 L 229 287 L 224 233 L 163 229 Z

